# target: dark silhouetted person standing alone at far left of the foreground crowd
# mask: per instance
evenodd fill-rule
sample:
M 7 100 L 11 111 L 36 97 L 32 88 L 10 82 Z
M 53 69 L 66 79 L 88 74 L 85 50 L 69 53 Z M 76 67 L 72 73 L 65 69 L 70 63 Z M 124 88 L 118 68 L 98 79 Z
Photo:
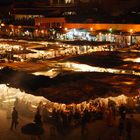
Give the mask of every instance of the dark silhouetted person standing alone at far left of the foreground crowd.
M 17 112 L 16 108 L 14 107 L 13 111 L 12 111 L 11 130 L 13 129 L 13 127 L 15 127 L 15 129 L 16 129 L 17 124 L 18 124 L 18 112 Z

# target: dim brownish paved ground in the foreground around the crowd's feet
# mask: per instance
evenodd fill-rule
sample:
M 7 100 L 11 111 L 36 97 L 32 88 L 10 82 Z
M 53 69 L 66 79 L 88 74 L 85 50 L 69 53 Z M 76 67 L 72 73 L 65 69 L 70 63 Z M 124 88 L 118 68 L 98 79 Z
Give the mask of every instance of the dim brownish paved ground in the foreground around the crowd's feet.
M 32 122 L 32 118 L 20 117 L 19 125 L 16 130 L 10 130 L 10 119 L 8 119 L 5 110 L 0 110 L 0 140 L 33 140 L 32 136 L 21 133 L 21 127 Z M 88 124 L 88 133 L 86 136 L 81 136 L 80 127 L 74 128 L 66 135 L 60 135 L 57 132 L 51 135 L 49 124 L 44 125 L 45 133 L 41 136 L 42 140 L 120 140 L 118 137 L 118 118 L 114 122 L 114 126 L 107 126 L 104 120 L 97 120 Z M 112 136 L 115 139 L 112 139 Z M 34 139 L 37 140 L 37 139 Z M 140 114 L 135 114 L 133 117 L 132 140 L 140 140 Z

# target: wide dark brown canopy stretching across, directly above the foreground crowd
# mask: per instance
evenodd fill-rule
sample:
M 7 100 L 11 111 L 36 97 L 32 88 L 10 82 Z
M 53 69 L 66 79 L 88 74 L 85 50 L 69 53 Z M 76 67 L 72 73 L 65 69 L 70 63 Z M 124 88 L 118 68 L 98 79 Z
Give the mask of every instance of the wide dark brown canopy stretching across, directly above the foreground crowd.
M 0 82 L 10 87 L 65 104 L 121 94 L 135 96 L 135 89 L 140 89 L 138 76 L 106 72 L 71 72 L 50 79 L 7 69 L 0 70 L 0 77 Z

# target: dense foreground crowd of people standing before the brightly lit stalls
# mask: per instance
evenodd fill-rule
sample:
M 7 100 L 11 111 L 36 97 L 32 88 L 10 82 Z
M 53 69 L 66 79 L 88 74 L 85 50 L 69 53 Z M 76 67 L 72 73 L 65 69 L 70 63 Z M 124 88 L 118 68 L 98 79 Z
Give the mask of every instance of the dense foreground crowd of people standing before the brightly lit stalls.
M 104 120 L 108 127 L 118 127 L 118 136 L 120 139 L 124 137 L 127 140 L 132 138 L 132 111 L 126 106 L 121 104 L 117 106 L 114 102 L 108 102 L 107 106 L 97 100 L 94 104 L 89 104 L 88 107 L 82 107 L 80 109 L 72 107 L 69 109 L 57 109 L 53 108 L 50 112 L 45 108 L 44 104 L 40 102 L 36 108 L 36 111 L 32 112 L 30 109 L 31 104 L 28 103 L 26 109 L 23 111 L 20 108 L 20 101 L 15 102 L 15 107 L 12 113 L 11 129 L 17 127 L 18 124 L 18 113 L 33 117 L 33 122 L 39 126 L 44 124 L 51 125 L 51 135 L 56 135 L 56 132 L 61 135 L 66 135 L 74 128 L 80 128 L 81 136 L 88 134 L 88 124 L 96 120 Z M 22 106 L 25 108 L 25 106 Z M 16 108 L 18 112 L 16 111 Z M 22 113 L 21 113 L 22 111 Z M 130 114 L 127 118 L 127 114 Z M 13 115 L 14 114 L 14 115 Z M 32 115 L 29 115 L 32 114 Z M 119 117 L 119 119 L 117 119 Z M 113 137 L 112 137 L 112 140 Z

